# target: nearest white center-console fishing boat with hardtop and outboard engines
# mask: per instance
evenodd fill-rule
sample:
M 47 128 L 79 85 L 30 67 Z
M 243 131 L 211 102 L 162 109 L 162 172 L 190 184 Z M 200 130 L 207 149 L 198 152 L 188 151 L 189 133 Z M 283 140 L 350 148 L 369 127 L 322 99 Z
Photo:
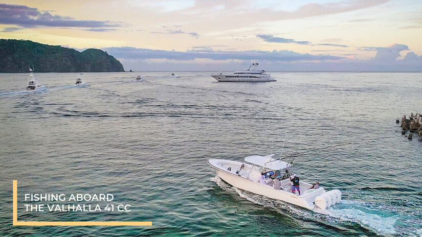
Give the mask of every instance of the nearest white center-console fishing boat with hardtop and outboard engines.
M 281 158 L 276 159 L 273 156 L 275 154 L 248 156 L 245 158 L 248 163 L 224 159 L 208 159 L 207 162 L 215 169 L 220 179 L 254 194 L 292 203 L 310 210 L 326 209 L 341 201 L 340 190 L 334 189 L 326 192 L 323 187 L 315 187 L 304 181 L 299 181 L 300 195 L 292 193 L 293 162 L 285 162 Z M 280 176 L 281 189 L 273 187 L 273 180 L 277 176 Z

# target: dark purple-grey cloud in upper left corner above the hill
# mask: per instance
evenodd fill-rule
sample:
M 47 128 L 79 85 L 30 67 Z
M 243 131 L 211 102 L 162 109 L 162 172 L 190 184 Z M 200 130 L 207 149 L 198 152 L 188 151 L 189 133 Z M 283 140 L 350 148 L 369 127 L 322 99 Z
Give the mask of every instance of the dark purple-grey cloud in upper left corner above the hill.
M 110 28 L 121 26 L 118 23 L 98 20 L 75 20 L 72 17 L 52 15 L 48 11 L 38 11 L 23 5 L 0 4 L 0 23 L 26 28 L 35 27 L 90 27 Z

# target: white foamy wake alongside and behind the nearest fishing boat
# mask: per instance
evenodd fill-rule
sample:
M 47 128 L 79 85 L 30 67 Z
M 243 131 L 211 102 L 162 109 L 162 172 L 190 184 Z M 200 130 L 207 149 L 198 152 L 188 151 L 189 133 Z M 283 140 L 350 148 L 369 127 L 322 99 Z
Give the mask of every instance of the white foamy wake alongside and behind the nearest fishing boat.
M 215 182 L 225 191 L 237 193 L 240 197 L 255 204 L 274 208 L 283 215 L 287 212 L 290 216 L 297 219 L 318 222 L 324 225 L 328 223 L 329 226 L 339 229 L 343 229 L 344 227 L 356 228 L 353 227 L 352 223 L 358 223 L 362 228 L 371 230 L 377 234 L 397 234 L 395 224 L 398 220 L 398 215 L 388 209 L 371 208 L 371 205 L 368 205 L 366 202 L 342 200 L 339 204 L 325 210 L 318 208 L 315 211 L 310 211 L 233 187 L 221 180 L 218 176 L 211 178 L 211 181 Z

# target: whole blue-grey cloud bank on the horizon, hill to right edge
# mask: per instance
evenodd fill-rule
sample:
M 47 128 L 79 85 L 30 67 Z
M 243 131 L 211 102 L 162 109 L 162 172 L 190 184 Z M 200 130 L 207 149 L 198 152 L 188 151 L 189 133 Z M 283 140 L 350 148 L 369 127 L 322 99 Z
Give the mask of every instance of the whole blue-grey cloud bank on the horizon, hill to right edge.
M 342 57 L 331 55 L 300 54 L 292 51 L 213 51 L 200 50 L 166 51 L 131 47 L 104 48 L 118 58 L 125 67 L 136 70 L 231 70 L 259 61 L 266 70 L 299 71 L 421 71 L 422 56 L 408 52 L 403 59 L 401 52 L 407 45 L 393 44 L 388 47 L 362 47 L 375 50 L 373 58 L 360 60 L 354 54 Z M 337 52 L 337 51 L 336 51 Z

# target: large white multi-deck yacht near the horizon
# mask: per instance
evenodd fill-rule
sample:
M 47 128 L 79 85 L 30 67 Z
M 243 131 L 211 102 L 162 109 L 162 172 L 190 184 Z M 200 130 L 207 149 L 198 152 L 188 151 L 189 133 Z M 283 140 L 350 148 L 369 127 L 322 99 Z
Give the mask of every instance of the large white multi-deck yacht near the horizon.
M 232 74 L 223 74 L 223 72 L 219 72 L 218 74 L 212 74 L 215 80 L 219 82 L 230 82 L 230 81 L 276 81 L 270 74 L 266 74 L 265 70 L 257 70 L 256 67 L 258 63 L 252 63 L 249 66 L 248 70 L 240 70 L 233 72 Z

